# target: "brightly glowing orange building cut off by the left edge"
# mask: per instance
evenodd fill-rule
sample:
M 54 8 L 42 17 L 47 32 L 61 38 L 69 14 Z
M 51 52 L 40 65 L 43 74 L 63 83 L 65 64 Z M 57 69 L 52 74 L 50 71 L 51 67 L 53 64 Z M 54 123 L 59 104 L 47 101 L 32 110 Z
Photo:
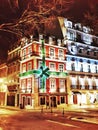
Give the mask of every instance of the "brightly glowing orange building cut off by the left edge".
M 7 101 L 7 65 L 0 64 L 0 105 L 5 106 Z

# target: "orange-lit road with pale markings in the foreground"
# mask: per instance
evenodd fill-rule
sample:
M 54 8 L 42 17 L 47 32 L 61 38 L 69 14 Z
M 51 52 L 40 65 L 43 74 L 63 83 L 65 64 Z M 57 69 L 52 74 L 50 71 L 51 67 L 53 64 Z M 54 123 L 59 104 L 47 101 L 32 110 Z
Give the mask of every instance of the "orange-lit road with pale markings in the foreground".
M 0 108 L 0 130 L 97 130 L 98 110 L 26 111 Z

